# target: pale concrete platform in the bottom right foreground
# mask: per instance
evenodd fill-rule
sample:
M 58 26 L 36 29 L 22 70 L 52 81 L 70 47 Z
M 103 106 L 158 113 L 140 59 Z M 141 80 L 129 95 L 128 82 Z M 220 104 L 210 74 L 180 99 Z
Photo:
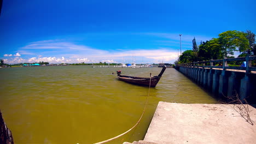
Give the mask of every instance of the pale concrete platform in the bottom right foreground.
M 250 124 L 235 105 L 159 102 L 144 141 L 155 143 L 256 143 L 256 109 Z

